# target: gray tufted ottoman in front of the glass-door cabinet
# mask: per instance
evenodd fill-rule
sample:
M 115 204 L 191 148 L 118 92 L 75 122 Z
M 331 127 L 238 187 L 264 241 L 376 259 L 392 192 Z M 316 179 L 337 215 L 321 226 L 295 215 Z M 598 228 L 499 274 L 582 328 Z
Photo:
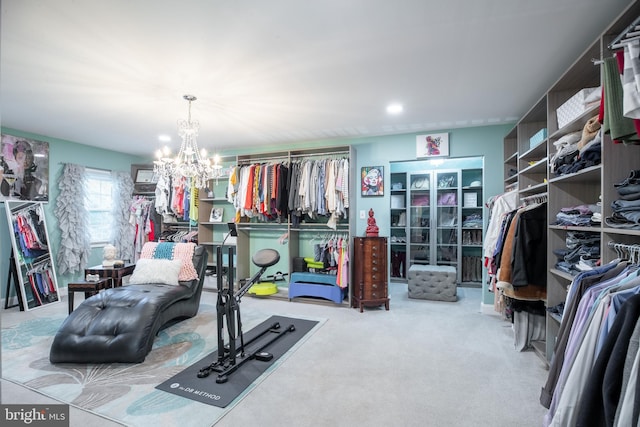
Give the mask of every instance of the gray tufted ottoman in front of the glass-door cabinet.
M 457 301 L 456 269 L 446 265 L 417 265 L 409 268 L 409 298 Z

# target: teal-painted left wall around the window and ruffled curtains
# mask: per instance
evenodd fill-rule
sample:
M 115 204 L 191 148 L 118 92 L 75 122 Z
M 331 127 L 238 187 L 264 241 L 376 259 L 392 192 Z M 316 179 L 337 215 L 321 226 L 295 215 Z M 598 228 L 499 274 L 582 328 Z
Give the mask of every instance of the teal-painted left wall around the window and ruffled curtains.
M 47 231 L 49 232 L 51 253 L 54 261 L 56 261 L 58 248 L 60 247 L 60 229 L 58 228 L 58 221 L 54 215 L 54 210 L 55 201 L 59 193 L 57 186 L 58 178 L 62 173 L 64 164 L 75 163 L 96 169 L 129 172 L 131 171 L 132 163 L 144 163 L 148 161 L 148 159 L 143 159 L 138 156 L 131 156 L 75 142 L 22 132 L 15 129 L 1 128 L 1 131 L 3 134 L 7 135 L 15 135 L 49 143 L 49 202 L 44 204 L 44 210 Z M 4 203 L 0 203 L 0 205 L 2 205 L 0 207 L 0 277 L 2 278 L 1 295 L 4 297 L 6 292 L 6 278 L 9 271 L 9 255 L 11 254 L 11 235 L 9 234 L 9 225 L 7 222 Z M 89 265 L 96 265 L 102 262 L 101 247 L 92 249 L 89 262 Z M 82 273 L 74 276 L 58 275 L 58 287 L 65 287 L 68 282 L 77 280 L 82 276 Z

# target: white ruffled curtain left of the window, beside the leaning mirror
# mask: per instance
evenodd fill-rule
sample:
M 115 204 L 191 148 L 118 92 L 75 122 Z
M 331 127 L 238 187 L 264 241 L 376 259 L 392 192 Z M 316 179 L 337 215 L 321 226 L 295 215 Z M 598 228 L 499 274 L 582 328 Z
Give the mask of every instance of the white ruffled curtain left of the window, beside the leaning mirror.
M 60 193 L 54 213 L 60 228 L 58 249 L 58 273 L 83 271 L 89 260 L 89 214 L 85 208 L 86 169 L 84 166 L 66 164 L 58 180 Z

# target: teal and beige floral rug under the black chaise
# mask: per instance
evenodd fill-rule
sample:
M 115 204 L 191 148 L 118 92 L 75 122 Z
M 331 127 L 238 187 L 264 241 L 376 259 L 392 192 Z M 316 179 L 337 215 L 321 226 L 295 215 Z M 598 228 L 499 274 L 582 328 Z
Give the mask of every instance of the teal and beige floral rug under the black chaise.
M 264 320 L 262 313 L 251 314 L 243 313 L 245 331 Z M 211 426 L 252 389 L 226 408 L 155 389 L 215 350 L 212 306 L 202 304 L 196 317 L 161 331 L 140 364 L 51 364 L 49 348 L 63 321 L 64 317 L 42 317 L 2 329 L 2 377 L 114 421 L 145 427 L 180 425 L 187 418 L 190 426 Z

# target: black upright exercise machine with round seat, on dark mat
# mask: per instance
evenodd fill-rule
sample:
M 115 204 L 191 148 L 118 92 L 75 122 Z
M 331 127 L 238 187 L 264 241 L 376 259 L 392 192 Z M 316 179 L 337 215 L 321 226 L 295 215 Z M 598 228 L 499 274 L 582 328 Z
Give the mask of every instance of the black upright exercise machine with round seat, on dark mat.
M 225 287 L 223 281 L 222 268 L 222 251 L 224 243 L 229 236 L 237 236 L 235 223 L 228 223 L 229 233 L 222 241 L 222 244 L 216 250 L 216 279 L 218 298 L 216 301 L 217 312 L 217 328 L 218 328 L 218 351 L 216 360 L 208 366 L 200 369 L 198 378 L 206 378 L 212 372 L 217 372 L 216 382 L 222 384 L 227 382 L 229 375 L 240 369 L 249 360 L 269 361 L 273 359 L 273 354 L 265 351 L 267 347 L 276 340 L 284 336 L 287 332 L 295 331 L 293 325 L 289 325 L 285 329 L 280 329 L 280 323 L 274 322 L 266 327 L 263 331 L 258 332 L 256 336 L 248 342 L 244 342 L 242 333 L 242 320 L 240 318 L 240 300 L 249 288 L 260 280 L 267 268 L 275 265 L 280 261 L 280 254 L 275 249 L 261 249 L 256 252 L 253 257 L 253 263 L 260 267 L 260 270 L 244 284 L 236 292 L 233 290 L 233 248 L 229 248 L 229 265 L 227 268 L 227 285 Z M 228 344 L 224 343 L 224 323 L 226 321 Z M 237 329 L 237 334 L 236 334 Z M 267 336 L 269 338 L 267 339 Z M 240 347 L 236 348 L 236 341 L 240 339 Z M 245 346 L 255 344 L 251 350 L 245 352 Z

